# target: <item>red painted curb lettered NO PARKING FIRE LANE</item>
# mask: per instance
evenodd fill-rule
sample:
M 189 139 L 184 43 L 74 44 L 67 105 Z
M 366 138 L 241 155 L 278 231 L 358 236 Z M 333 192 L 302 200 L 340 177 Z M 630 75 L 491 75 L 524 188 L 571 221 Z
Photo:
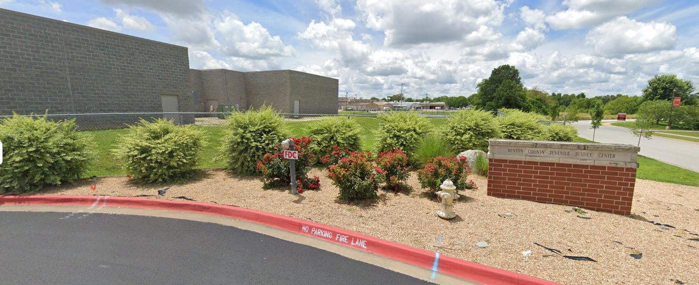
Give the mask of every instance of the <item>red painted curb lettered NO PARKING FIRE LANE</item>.
M 387 258 L 400 260 L 404 263 L 431 269 L 435 262 L 435 253 L 417 249 L 405 244 L 390 242 L 377 237 L 363 235 L 323 225 L 300 218 L 292 218 L 278 214 L 267 213 L 234 206 L 209 204 L 201 202 L 180 202 L 138 197 L 109 197 L 109 196 L 66 196 L 66 195 L 0 195 L 0 205 L 50 204 L 50 205 L 85 205 L 94 207 L 128 207 L 139 209 L 166 209 L 175 211 L 190 211 L 201 214 L 226 216 L 254 223 L 261 223 L 273 228 L 310 235 L 336 244 L 343 244 L 354 249 L 375 253 Z M 440 255 L 438 272 L 453 275 L 482 284 L 556 284 L 552 281 L 531 277 L 525 274 L 473 263 L 458 258 Z

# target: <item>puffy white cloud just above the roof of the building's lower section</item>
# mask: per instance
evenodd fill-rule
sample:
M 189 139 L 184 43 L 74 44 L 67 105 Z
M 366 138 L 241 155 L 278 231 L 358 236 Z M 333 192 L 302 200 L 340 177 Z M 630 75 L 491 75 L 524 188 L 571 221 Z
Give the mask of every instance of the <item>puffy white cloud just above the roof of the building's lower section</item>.
M 259 60 L 294 54 L 294 48 L 284 45 L 280 36 L 271 36 L 268 30 L 257 22 L 245 25 L 233 13 L 227 13 L 217 20 L 214 26 L 224 55 Z

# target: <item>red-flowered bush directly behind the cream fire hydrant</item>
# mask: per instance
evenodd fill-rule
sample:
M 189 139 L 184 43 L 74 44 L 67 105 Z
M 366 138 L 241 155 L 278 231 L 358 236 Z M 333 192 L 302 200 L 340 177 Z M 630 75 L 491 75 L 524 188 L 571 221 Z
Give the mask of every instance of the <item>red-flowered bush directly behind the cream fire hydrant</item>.
M 422 188 L 428 188 L 431 192 L 440 190 L 446 179 L 452 179 L 456 189 L 477 189 L 476 183 L 468 179 L 471 169 L 465 156 L 457 159 L 448 156 L 438 156 L 427 161 L 424 169 L 417 171 L 417 180 Z

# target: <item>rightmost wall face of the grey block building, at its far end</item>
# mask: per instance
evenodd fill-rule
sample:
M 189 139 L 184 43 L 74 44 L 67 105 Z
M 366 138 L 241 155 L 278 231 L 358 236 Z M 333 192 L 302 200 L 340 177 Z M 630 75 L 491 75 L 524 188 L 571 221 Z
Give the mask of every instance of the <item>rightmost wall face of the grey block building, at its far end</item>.
M 289 71 L 291 111 L 299 100 L 299 113 L 336 114 L 338 109 L 338 80 L 335 78 Z

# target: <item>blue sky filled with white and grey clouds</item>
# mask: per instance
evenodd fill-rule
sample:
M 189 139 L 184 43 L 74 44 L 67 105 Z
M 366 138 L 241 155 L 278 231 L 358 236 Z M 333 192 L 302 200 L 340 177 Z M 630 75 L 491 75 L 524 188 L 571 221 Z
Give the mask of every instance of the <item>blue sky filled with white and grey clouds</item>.
M 526 88 L 699 86 L 694 0 L 0 0 L 0 8 L 189 48 L 194 69 L 293 69 L 360 98 L 469 96 L 511 64 Z

